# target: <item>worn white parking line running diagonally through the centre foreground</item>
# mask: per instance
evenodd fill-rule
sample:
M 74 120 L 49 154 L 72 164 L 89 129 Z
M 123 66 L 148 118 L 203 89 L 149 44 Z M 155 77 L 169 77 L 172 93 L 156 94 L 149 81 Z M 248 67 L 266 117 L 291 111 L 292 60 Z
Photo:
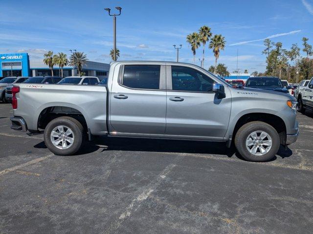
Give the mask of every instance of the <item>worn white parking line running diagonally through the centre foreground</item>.
M 156 186 L 158 186 L 162 180 L 166 178 L 166 176 L 173 170 L 174 167 L 177 166 L 178 160 L 181 160 L 183 156 L 177 156 L 173 163 L 169 164 L 157 177 L 156 179 L 150 183 L 148 188 L 146 188 L 141 194 L 139 194 L 134 200 L 131 202 L 131 204 L 128 205 L 126 210 L 118 217 L 118 219 L 114 220 L 110 226 L 103 232 L 103 234 L 112 234 L 115 230 L 117 230 L 121 224 L 129 218 L 134 211 L 136 211 L 141 203 L 145 201 L 149 195 L 152 194 L 152 192 L 156 189 Z

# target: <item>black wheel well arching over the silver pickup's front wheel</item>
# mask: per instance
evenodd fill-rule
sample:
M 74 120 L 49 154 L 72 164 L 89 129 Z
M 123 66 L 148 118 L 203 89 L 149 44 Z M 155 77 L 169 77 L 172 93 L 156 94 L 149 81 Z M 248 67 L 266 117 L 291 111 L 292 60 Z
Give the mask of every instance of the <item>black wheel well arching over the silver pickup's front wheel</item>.
M 271 125 L 279 134 L 280 143 L 285 145 L 286 143 L 286 125 L 282 118 L 267 114 L 267 113 L 250 113 L 240 117 L 236 123 L 233 131 L 232 138 L 234 139 L 237 131 L 246 123 L 252 121 L 262 121 Z

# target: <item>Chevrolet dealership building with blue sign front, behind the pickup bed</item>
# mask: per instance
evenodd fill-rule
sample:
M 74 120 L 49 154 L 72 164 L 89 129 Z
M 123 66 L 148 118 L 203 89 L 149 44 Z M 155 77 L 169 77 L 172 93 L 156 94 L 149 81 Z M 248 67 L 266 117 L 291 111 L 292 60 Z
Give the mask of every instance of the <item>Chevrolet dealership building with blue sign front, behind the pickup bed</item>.
M 110 64 L 102 62 L 87 61 L 83 65 L 83 72 L 86 76 L 107 78 L 109 75 Z M 53 75 L 61 76 L 59 67 L 53 67 Z M 77 67 L 63 67 L 63 76 L 76 76 Z M 44 64 L 43 59 L 29 59 L 27 53 L 22 54 L 0 54 L 0 77 L 35 77 L 51 76 L 50 68 Z

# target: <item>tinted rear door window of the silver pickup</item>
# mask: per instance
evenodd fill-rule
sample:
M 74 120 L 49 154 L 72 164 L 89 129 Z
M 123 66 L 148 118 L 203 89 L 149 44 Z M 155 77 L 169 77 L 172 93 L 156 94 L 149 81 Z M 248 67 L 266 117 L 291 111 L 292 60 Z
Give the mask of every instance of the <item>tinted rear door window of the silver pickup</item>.
M 125 65 L 122 84 L 135 89 L 159 89 L 158 65 Z

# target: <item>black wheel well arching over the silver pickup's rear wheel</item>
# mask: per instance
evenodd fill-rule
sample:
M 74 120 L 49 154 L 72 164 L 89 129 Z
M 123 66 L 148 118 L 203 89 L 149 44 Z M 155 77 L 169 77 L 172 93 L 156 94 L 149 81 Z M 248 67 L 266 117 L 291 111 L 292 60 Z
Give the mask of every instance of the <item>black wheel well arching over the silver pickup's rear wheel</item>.
M 37 126 L 40 129 L 45 129 L 51 120 L 62 116 L 75 118 L 83 125 L 84 130 L 87 131 L 87 122 L 83 114 L 74 108 L 65 106 L 51 106 L 45 108 L 38 117 Z

